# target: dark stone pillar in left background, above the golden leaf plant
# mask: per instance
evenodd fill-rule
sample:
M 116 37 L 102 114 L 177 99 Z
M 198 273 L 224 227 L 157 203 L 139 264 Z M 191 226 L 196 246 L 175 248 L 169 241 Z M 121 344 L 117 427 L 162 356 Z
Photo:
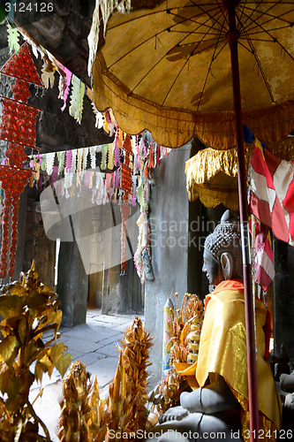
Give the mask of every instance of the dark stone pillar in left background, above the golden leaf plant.
M 76 241 L 60 243 L 57 293 L 64 327 L 85 324 L 88 276 Z

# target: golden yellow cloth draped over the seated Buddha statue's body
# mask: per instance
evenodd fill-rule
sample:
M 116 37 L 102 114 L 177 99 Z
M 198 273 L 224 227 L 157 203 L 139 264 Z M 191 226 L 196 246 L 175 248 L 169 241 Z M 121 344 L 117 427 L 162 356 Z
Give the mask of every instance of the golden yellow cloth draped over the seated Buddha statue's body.
M 243 437 L 247 439 L 249 405 L 243 282 L 222 281 L 214 293 L 207 295 L 206 304 L 198 362 L 193 365 L 175 365 L 179 374 L 187 376 L 188 381 L 192 380 L 192 375 L 195 380 L 196 374 L 199 386 L 206 385 L 209 373 L 217 373 L 225 379 L 243 408 Z M 270 364 L 264 359 L 263 327 L 266 324 L 267 308 L 263 302 L 256 300 L 255 310 L 260 435 L 263 434 L 265 440 L 275 440 L 281 425 L 282 407 Z M 192 388 L 196 386 L 194 380 Z

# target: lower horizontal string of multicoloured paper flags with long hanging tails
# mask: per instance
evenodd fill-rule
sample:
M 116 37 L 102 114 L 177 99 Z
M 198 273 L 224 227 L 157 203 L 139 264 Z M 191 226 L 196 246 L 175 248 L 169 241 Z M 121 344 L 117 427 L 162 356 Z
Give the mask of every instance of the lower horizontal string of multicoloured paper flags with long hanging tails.
M 133 258 L 139 278 L 152 279 L 147 217 L 149 174 L 169 153 L 170 149 L 157 145 L 155 141 L 148 143 L 145 133 L 130 136 L 117 127 L 113 143 L 31 156 L 34 174 L 30 186 L 42 191 L 49 185 L 55 185 L 57 197 L 72 198 L 83 194 L 93 204 L 118 202 L 122 217 L 121 275 L 126 271 L 127 221 L 131 207 L 138 203 L 139 237 Z M 106 170 L 111 172 L 103 172 Z

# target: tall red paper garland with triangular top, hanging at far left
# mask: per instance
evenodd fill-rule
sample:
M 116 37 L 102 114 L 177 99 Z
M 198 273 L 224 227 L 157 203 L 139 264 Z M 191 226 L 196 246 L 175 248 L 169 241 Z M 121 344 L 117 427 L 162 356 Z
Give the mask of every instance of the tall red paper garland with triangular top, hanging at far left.
M 12 99 L 3 98 L 0 138 L 9 141 L 5 156 L 9 165 L 0 166 L 0 181 L 4 190 L 4 209 L 2 216 L 3 233 L 0 255 L 0 278 L 13 276 L 18 241 L 19 198 L 33 171 L 21 169 L 26 160 L 24 146 L 35 149 L 36 118 L 39 110 L 26 104 L 29 84 L 43 87 L 39 72 L 34 65 L 31 52 L 25 43 L 3 66 L 1 72 L 16 80 L 11 87 Z M 22 102 L 22 103 L 21 103 Z M 9 225 L 11 219 L 11 226 Z

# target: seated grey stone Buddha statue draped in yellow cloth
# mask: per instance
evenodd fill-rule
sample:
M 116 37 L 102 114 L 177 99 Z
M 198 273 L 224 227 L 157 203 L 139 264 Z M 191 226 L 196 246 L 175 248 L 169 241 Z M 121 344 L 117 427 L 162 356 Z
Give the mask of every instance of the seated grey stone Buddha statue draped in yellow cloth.
M 198 361 L 175 363 L 193 390 L 182 392 L 181 405 L 160 416 L 148 435 L 150 441 L 249 440 L 242 249 L 237 220 L 230 210 L 207 236 L 203 262 L 202 271 L 213 293 L 205 302 Z M 265 357 L 268 311 L 260 300 L 256 300 L 255 312 L 260 431 L 264 435 L 268 431 L 267 440 L 275 440 L 281 403 Z

